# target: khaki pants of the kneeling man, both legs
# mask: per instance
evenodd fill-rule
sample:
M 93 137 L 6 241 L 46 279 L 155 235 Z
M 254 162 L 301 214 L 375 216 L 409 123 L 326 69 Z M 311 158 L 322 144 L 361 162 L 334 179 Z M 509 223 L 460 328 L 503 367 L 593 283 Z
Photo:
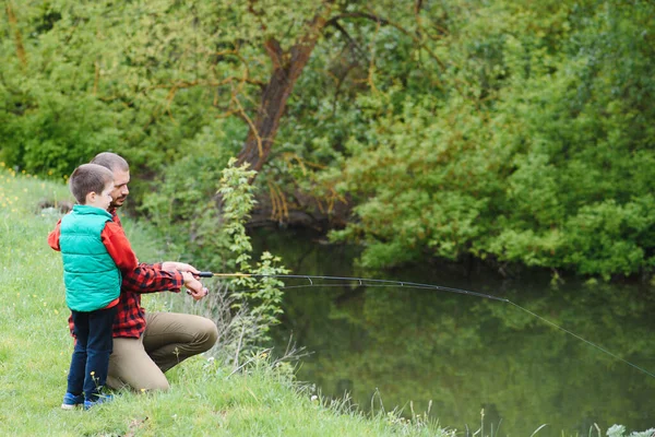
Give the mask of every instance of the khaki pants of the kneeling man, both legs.
M 141 339 L 114 339 L 107 386 L 168 390 L 164 373 L 190 356 L 209 351 L 218 339 L 216 324 L 204 317 L 146 312 Z

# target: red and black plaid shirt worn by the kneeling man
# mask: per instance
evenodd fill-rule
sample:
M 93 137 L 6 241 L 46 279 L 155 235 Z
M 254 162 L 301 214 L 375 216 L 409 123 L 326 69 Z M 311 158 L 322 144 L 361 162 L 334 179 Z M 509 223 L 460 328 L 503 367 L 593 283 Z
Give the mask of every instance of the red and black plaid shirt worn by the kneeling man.
M 116 211 L 110 211 L 114 222 L 121 225 Z M 121 225 L 122 227 L 122 225 Z M 123 273 L 118 300 L 118 314 L 114 320 L 114 336 L 139 339 L 145 331 L 145 309 L 141 306 L 142 293 L 170 291 L 179 293 L 184 280 L 180 272 L 162 270 L 162 264 L 140 263 L 136 269 Z M 69 317 L 69 328 L 73 332 L 73 319 Z

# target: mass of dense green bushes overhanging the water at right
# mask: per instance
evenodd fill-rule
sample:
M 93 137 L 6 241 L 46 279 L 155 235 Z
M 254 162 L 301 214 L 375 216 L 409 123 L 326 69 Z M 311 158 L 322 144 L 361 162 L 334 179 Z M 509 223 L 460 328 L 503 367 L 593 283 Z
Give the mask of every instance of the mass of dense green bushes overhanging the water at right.
M 651 270 L 655 9 L 591 3 L 451 5 L 434 46 L 448 94 L 359 94 L 365 127 L 321 175 L 353 197 L 333 237 L 364 244 L 366 267 L 471 253 L 605 279 Z

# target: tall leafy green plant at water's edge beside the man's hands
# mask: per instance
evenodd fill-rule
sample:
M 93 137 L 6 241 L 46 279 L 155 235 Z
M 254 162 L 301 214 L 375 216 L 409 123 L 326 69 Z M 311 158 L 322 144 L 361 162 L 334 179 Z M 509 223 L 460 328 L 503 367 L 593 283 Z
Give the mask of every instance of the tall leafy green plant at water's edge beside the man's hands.
M 250 354 L 258 353 L 258 345 L 269 339 L 271 327 L 278 322 L 284 283 L 272 275 L 288 270 L 279 257 L 269 252 L 253 260 L 246 223 L 255 204 L 254 188 L 249 184 L 255 172 L 248 165 L 237 167 L 231 158 L 221 175 L 214 198 L 196 206 L 190 218 L 193 241 L 180 240 L 179 247 L 184 247 L 194 265 L 235 274 L 212 286 L 204 305 L 196 307 L 218 327 L 216 355 L 238 368 Z

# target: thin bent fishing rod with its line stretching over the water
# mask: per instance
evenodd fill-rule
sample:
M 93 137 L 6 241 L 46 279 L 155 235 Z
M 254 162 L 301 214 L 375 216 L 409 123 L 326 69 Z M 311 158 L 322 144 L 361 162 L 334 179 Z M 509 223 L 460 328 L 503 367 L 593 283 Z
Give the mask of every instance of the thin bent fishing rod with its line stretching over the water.
M 544 321 L 545 323 L 550 324 L 551 327 L 555 327 L 557 329 L 559 329 L 560 331 L 563 331 L 565 333 L 568 333 L 569 335 L 574 336 L 575 339 L 597 349 L 598 351 L 611 356 L 615 359 L 618 359 L 620 362 L 623 362 L 626 364 L 628 364 L 629 366 L 638 369 L 639 371 L 648 375 L 652 378 L 655 378 L 655 374 L 633 364 L 630 363 L 629 361 L 621 358 L 620 356 L 618 356 L 617 354 L 611 353 L 610 351 L 606 350 L 605 347 L 593 343 L 586 339 L 583 339 L 582 336 L 577 335 L 576 333 L 569 331 L 562 327 L 560 327 L 559 324 L 556 324 L 553 322 L 551 322 L 548 319 L 543 318 L 541 316 L 534 314 L 533 311 L 528 310 L 527 308 L 523 308 L 521 305 L 514 304 L 513 302 L 511 302 L 510 299 L 505 299 L 503 297 L 498 297 L 498 296 L 493 296 L 490 294 L 484 294 L 484 293 L 476 293 L 476 292 L 469 292 L 468 290 L 462 290 L 462 288 L 453 288 L 453 287 L 446 287 L 446 286 L 442 286 L 442 285 L 433 285 L 433 284 L 422 284 L 422 283 L 418 283 L 418 282 L 406 282 L 406 281 L 392 281 L 392 280 L 378 280 L 378 279 L 367 279 L 367 277 L 355 277 L 355 276 L 327 276 L 327 275 L 311 275 L 311 274 L 251 274 L 251 273 L 214 273 L 214 272 L 200 272 L 198 274 L 195 274 L 199 277 L 223 277 L 223 279 L 229 279 L 229 277 L 253 277 L 253 279 L 264 279 L 264 277 L 276 277 L 276 279 L 291 279 L 291 280 L 307 280 L 309 281 L 309 284 L 305 284 L 305 285 L 293 285 L 293 286 L 284 286 L 281 288 L 297 288 L 297 287 L 317 287 L 317 286 L 346 286 L 346 285 L 352 285 L 352 284 L 314 284 L 314 281 L 349 281 L 349 282 L 355 282 L 360 286 L 371 286 L 371 287 L 382 287 L 382 286 L 386 286 L 386 287 L 403 287 L 403 288 L 417 288 L 417 290 L 436 290 L 436 291 L 441 291 L 441 292 L 449 292 L 449 293 L 457 293 L 457 294 L 464 294 L 464 295 L 468 295 L 468 296 L 476 296 L 476 297 L 483 297 L 486 299 L 491 299 L 491 300 L 499 300 L 499 302 L 503 302 L 503 303 L 508 303 L 525 312 L 527 312 L 528 315 L 536 317 L 537 319 Z

